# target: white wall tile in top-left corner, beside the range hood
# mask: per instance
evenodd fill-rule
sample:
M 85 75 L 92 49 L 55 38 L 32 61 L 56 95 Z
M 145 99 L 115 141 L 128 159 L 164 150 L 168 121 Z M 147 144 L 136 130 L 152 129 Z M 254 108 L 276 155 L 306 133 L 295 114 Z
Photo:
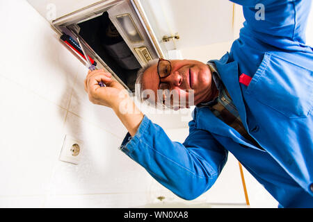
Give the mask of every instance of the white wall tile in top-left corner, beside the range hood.
M 81 62 L 26 1 L 1 2 L 0 19 L 1 74 L 67 108 Z

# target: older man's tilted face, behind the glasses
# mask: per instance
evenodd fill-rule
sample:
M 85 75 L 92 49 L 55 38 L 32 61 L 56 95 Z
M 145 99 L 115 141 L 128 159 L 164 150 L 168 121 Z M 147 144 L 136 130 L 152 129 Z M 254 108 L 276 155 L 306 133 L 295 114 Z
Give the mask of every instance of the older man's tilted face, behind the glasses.
M 178 95 L 179 101 L 174 102 L 176 108 L 184 108 L 208 101 L 211 92 L 211 71 L 203 62 L 197 60 L 170 60 L 172 70 L 169 76 L 161 78 L 162 83 L 168 83 L 170 89 Z M 157 101 L 159 75 L 157 64 L 149 67 L 143 74 L 143 90 L 152 89 Z M 190 96 L 194 96 L 194 104 L 188 104 Z M 186 101 L 186 105 L 182 104 Z M 192 101 L 192 100 L 191 100 Z

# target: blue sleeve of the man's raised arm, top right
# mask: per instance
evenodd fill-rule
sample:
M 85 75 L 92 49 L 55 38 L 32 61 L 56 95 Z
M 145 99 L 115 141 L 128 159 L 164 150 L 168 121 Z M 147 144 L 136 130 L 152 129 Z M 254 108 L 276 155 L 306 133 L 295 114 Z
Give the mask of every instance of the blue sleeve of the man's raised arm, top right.
M 231 1 L 243 6 L 246 19 L 244 26 L 259 40 L 269 40 L 268 44 L 271 44 L 271 37 L 287 38 L 305 44 L 305 29 L 312 0 Z

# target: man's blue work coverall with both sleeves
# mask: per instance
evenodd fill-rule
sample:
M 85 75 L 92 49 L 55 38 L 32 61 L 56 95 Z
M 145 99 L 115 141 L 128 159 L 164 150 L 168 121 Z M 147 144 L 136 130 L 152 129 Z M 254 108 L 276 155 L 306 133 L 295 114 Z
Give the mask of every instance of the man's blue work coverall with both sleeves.
M 214 184 L 230 151 L 278 200 L 278 207 L 313 207 L 313 52 L 305 45 L 311 0 L 234 3 L 243 6 L 246 22 L 230 53 L 211 62 L 243 126 L 264 150 L 207 107 L 193 110 L 183 144 L 172 142 L 145 116 L 121 150 L 187 200 Z M 257 3 L 264 6 L 264 19 L 256 19 Z M 248 86 L 239 83 L 241 74 L 252 77 Z

